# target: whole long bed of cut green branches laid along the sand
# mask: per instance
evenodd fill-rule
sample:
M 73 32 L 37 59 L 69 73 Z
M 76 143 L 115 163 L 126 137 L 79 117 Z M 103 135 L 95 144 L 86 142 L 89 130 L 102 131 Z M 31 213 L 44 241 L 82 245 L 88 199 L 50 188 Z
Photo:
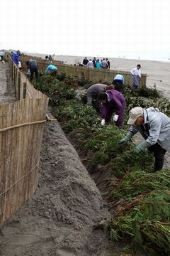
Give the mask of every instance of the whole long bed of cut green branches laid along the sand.
M 126 241 L 131 248 L 143 247 L 148 255 L 170 255 L 170 170 L 153 173 L 151 153 L 134 154 L 132 142 L 127 146 L 118 144 L 128 127 L 101 127 L 96 110 L 76 97 L 75 91 L 83 86 L 79 78 L 42 75 L 34 86 L 50 97 L 53 114 L 64 132 L 75 139 L 87 169 L 92 166 L 98 172 L 96 183 L 113 214 L 104 225 L 110 238 Z M 170 102 L 159 98 L 157 90 L 134 91 L 127 85 L 125 98 L 125 119 L 135 106 L 158 107 L 170 116 Z

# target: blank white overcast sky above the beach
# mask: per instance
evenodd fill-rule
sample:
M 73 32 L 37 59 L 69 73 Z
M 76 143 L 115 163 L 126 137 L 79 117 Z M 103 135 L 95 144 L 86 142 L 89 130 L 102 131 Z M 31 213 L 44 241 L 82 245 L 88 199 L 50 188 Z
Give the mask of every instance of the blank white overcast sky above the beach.
M 0 48 L 58 55 L 168 55 L 169 0 L 2 0 Z

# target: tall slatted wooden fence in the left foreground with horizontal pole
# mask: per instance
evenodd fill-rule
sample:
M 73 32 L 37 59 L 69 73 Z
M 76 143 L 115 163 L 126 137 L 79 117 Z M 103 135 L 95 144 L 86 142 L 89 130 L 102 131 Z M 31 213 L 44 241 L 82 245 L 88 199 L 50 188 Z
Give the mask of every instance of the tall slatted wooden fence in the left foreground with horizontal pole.
M 0 106 L 0 227 L 35 192 L 48 99 L 9 60 L 17 102 Z M 21 99 L 21 100 L 20 100 Z

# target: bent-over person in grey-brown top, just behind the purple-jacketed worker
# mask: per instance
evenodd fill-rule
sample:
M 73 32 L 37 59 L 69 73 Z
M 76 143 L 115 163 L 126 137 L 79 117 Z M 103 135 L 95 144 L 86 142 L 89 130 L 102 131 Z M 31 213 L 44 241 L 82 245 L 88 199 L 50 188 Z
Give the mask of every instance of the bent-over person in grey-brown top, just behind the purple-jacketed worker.
M 87 105 L 91 105 L 93 100 L 97 99 L 98 93 L 99 92 L 106 92 L 106 90 L 111 90 L 113 89 L 113 86 L 111 85 L 105 85 L 102 83 L 97 83 L 94 85 L 91 85 L 87 89 Z

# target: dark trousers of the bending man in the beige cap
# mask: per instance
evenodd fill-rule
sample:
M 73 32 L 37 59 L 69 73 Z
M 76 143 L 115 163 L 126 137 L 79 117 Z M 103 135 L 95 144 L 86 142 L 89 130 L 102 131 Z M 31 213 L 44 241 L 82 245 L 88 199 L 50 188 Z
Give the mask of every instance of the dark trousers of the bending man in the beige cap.
M 162 167 L 164 165 L 164 155 L 166 153 L 166 150 L 162 148 L 158 143 L 149 146 L 148 150 L 152 153 L 154 153 L 154 171 L 160 171 L 162 170 Z

